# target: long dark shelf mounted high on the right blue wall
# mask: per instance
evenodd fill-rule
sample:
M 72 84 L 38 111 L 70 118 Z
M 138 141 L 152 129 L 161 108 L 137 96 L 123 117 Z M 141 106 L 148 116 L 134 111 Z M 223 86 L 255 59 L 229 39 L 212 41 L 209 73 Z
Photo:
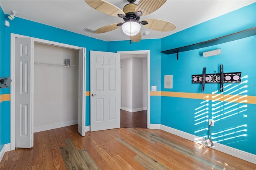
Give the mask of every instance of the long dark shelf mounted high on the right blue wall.
M 203 47 L 208 47 L 208 46 L 217 45 L 217 44 L 220 44 L 220 43 L 231 42 L 231 41 L 234 41 L 234 40 L 239 40 L 239 39 L 242 39 L 242 38 L 255 36 L 255 35 L 256 35 L 256 27 L 250 28 L 248 30 L 240 31 L 240 32 L 235 32 L 233 34 L 229 34 L 227 36 L 222 36 L 222 37 L 215 38 L 215 39 L 212 39 L 212 40 L 208 40 L 208 41 L 204 41 L 204 42 L 200 42 L 200 43 L 195 43 L 195 44 L 192 44 L 192 45 L 186 45 L 186 46 L 178 47 L 178 48 L 174 48 L 174 49 L 168 49 L 166 51 L 161 51 L 161 53 L 164 53 L 164 54 L 174 54 L 174 53 L 176 53 L 177 59 L 178 59 L 178 53 L 179 52 L 189 51 L 189 50 L 203 48 Z

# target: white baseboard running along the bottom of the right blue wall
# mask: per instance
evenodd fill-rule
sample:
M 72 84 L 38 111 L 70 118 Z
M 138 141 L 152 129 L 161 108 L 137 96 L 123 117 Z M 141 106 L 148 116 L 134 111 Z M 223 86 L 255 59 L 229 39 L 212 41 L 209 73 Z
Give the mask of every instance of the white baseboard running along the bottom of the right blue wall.
M 160 128 L 159 128 L 160 126 Z M 175 128 L 171 128 L 171 127 L 167 127 L 165 125 L 160 125 L 160 124 L 150 124 L 150 128 L 151 129 L 161 129 L 164 130 L 166 132 L 175 134 L 177 136 L 180 136 L 182 138 L 191 140 L 193 142 L 197 142 L 199 144 L 201 144 L 202 141 L 202 137 L 187 133 L 187 132 L 183 132 L 181 130 L 177 130 Z M 218 150 L 220 152 L 224 152 L 226 154 L 235 156 L 237 158 L 240 158 L 242 160 L 246 160 L 248 162 L 252 162 L 254 164 L 256 164 L 256 155 L 255 154 L 251 154 L 249 152 L 244 152 L 242 150 L 236 149 L 236 148 L 232 148 L 230 146 L 226 146 L 224 144 L 220 144 L 217 142 L 214 142 L 214 147 L 212 147 L 215 150 Z

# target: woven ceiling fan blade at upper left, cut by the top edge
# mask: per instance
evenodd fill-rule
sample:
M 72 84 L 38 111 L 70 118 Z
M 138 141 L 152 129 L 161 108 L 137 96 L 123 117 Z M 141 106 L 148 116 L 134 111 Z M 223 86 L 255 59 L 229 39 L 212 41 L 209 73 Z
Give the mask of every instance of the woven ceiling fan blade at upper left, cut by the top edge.
M 111 16 L 118 17 L 118 14 L 125 15 L 125 13 L 120 8 L 104 0 L 85 0 L 85 2 L 95 10 L 98 10 Z

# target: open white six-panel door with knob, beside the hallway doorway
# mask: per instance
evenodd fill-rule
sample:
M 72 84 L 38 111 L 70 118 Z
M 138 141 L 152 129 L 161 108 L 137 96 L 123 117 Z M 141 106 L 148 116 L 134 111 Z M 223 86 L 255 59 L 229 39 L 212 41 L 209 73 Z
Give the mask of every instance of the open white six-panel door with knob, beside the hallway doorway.
M 90 51 L 90 130 L 120 128 L 120 54 Z

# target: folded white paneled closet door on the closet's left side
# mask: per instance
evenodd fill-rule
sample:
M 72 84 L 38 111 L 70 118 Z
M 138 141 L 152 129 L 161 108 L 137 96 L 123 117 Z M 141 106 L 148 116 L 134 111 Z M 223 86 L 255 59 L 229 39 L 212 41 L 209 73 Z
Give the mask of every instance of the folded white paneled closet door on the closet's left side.
M 33 55 L 32 39 L 15 40 L 15 147 L 33 146 Z

